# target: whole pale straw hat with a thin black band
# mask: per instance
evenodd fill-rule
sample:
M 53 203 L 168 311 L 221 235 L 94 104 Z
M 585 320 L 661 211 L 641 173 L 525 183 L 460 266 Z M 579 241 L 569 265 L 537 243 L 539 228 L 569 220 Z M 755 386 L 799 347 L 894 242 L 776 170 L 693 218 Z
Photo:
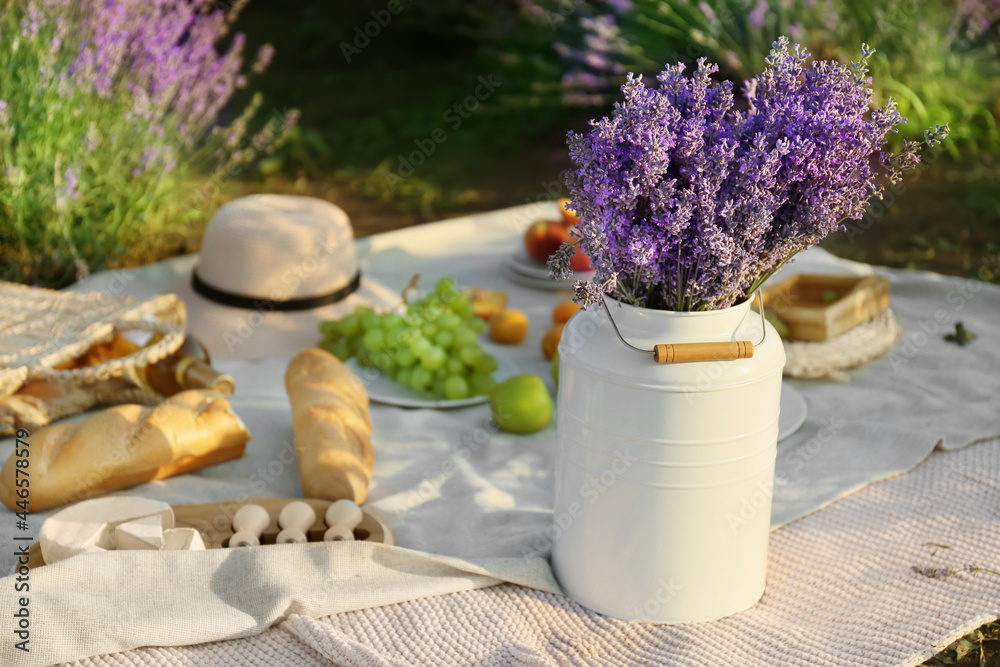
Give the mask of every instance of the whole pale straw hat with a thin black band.
M 319 323 L 400 296 L 360 273 L 347 214 L 322 199 L 253 195 L 221 206 L 205 231 L 184 300 L 188 332 L 213 359 L 295 354 Z

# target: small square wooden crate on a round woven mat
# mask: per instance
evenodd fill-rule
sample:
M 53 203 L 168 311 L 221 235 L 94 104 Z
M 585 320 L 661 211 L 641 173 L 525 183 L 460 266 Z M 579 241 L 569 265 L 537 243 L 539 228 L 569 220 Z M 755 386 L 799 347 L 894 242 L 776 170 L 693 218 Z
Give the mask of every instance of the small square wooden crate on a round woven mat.
M 836 299 L 827 295 L 836 293 Z M 764 290 L 764 308 L 788 325 L 791 340 L 823 341 L 866 322 L 889 307 L 889 281 L 881 276 L 800 273 Z

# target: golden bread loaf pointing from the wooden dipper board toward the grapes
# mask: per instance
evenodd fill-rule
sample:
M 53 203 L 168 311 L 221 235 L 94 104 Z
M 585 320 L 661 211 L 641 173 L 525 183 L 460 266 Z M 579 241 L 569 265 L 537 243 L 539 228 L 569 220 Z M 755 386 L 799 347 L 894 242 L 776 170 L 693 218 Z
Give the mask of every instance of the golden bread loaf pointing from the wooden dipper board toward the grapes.
M 305 497 L 360 505 L 375 462 L 361 380 L 329 352 L 307 348 L 289 362 L 285 387 Z

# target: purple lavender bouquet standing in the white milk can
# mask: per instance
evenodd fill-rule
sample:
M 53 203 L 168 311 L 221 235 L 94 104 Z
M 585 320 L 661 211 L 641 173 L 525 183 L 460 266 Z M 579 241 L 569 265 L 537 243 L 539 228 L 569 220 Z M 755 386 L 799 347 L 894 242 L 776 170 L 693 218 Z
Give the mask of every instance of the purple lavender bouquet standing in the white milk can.
M 745 112 L 704 59 L 692 77 L 667 67 L 659 88 L 629 75 L 612 116 L 568 136 L 575 242 L 596 270 L 577 281 L 576 300 L 726 308 L 843 220 L 860 218 L 920 151 L 911 141 L 886 149 L 905 119 L 892 100 L 869 110 L 872 53 L 863 47 L 849 66 L 809 63 L 781 38 L 747 82 Z M 947 126 L 928 130 L 924 144 L 946 135 Z M 574 250 L 564 245 L 550 259 L 555 277 L 568 278 Z

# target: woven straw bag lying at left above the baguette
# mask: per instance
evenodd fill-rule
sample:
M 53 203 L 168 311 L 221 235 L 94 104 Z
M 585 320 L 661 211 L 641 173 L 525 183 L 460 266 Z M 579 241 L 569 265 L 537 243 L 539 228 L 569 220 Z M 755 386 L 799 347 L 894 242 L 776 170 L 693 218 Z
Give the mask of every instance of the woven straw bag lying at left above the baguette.
M 122 377 L 137 366 L 156 363 L 184 342 L 185 321 L 184 304 L 174 294 L 137 300 L 0 281 L 0 398 L 33 380 L 86 383 Z M 55 368 L 127 329 L 165 335 L 128 356 L 96 366 Z

